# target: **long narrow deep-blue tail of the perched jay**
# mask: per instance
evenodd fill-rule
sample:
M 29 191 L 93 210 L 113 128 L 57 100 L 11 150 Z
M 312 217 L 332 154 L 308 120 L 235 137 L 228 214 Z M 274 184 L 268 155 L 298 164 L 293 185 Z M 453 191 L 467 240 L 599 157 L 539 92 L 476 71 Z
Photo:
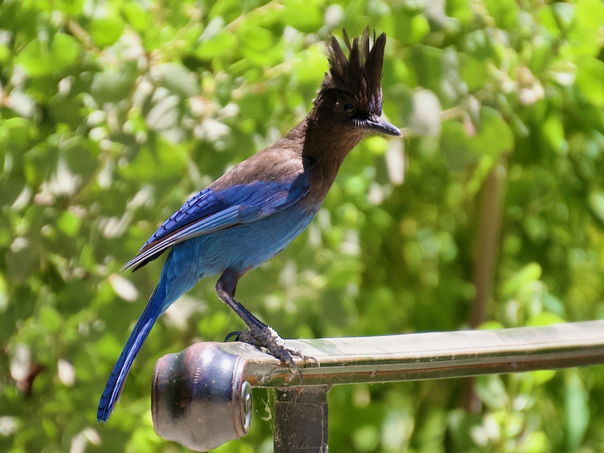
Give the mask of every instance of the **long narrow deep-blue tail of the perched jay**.
M 132 362 L 140 351 L 143 342 L 147 339 L 147 335 L 149 335 L 153 324 L 155 324 L 158 316 L 163 311 L 165 291 L 158 292 L 161 284 L 160 281 L 155 291 L 153 291 L 137 325 L 132 330 L 132 333 L 130 333 L 120 357 L 115 362 L 114 369 L 111 371 L 111 376 L 109 376 L 101 400 L 98 403 L 97 420 L 99 422 L 101 420 L 106 422 L 113 412 L 115 403 L 120 399 L 121 390 L 124 387 L 124 382 L 126 382 L 128 371 L 132 367 Z

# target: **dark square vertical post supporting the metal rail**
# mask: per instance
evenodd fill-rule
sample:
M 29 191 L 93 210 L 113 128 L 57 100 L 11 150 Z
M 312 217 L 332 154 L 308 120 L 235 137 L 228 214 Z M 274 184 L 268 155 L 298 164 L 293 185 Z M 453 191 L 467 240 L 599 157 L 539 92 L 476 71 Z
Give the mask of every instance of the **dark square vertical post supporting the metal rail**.
M 277 388 L 275 453 L 327 452 L 327 392 L 329 385 Z

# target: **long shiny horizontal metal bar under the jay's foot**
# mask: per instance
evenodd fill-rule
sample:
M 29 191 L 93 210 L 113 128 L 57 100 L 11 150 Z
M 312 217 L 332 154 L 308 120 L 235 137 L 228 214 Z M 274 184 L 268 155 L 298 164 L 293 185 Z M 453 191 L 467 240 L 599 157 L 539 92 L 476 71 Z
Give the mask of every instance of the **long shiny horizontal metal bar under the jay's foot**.
M 287 342 L 320 364 L 311 361 L 301 368 L 301 385 L 414 381 L 604 364 L 602 320 Z M 243 379 L 254 387 L 300 385 L 297 375 L 253 347 L 231 343 L 222 348 L 246 356 Z

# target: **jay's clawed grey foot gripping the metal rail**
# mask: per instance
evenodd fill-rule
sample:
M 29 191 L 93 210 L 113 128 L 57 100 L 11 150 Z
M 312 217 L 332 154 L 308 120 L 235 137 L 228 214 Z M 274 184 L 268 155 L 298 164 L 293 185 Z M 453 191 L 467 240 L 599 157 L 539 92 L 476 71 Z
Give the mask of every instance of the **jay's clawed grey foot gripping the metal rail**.
M 235 336 L 237 341 L 253 344 L 260 349 L 266 350 L 270 355 L 289 365 L 292 373 L 296 373 L 300 377 L 300 384 L 302 383 L 302 371 L 295 364 L 294 357 L 300 357 L 305 363 L 312 361 L 319 365 L 319 361 L 314 357 L 307 356 L 299 349 L 288 346 L 271 326 L 265 326 L 263 329 L 258 330 L 247 329 L 241 332 L 231 332 L 226 336 L 225 341 L 232 336 Z

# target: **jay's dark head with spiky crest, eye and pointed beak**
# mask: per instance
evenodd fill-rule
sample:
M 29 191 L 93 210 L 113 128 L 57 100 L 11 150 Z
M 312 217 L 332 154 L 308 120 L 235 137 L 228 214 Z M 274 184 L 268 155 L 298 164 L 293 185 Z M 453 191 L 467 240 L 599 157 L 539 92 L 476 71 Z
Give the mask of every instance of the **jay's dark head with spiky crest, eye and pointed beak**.
M 329 118 L 339 129 L 367 133 L 384 133 L 400 136 L 400 130 L 382 115 L 382 66 L 386 34 L 373 40 L 369 48 L 369 27 L 352 44 L 342 30 L 344 43 L 349 50 L 346 58 L 338 40 L 332 36 L 329 48 L 329 72 L 315 99 L 315 110 L 321 118 Z

